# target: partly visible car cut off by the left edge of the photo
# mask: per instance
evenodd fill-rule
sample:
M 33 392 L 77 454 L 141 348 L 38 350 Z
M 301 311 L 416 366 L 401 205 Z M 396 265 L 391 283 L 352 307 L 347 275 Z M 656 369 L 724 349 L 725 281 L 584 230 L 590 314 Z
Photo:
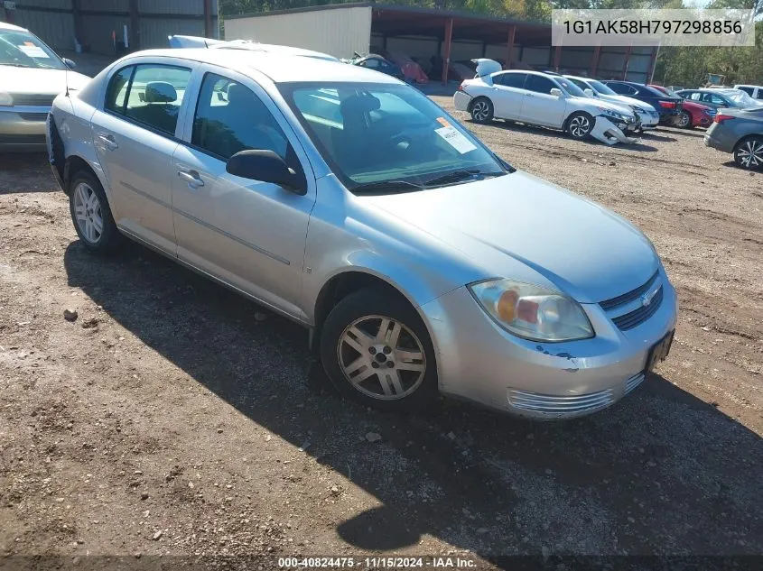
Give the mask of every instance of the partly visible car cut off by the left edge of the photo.
M 0 22 L 0 154 L 45 150 L 53 99 L 90 80 L 73 67 L 29 30 Z

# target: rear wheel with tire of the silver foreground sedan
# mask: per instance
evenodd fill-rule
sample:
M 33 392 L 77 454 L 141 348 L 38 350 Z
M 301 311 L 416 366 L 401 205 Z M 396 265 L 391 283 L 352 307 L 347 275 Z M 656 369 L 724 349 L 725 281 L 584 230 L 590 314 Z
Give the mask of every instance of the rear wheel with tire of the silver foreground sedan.
M 116 250 L 122 235 L 111 216 L 103 187 L 87 170 L 79 170 L 71 177 L 69 211 L 79 240 L 89 251 L 110 253 Z

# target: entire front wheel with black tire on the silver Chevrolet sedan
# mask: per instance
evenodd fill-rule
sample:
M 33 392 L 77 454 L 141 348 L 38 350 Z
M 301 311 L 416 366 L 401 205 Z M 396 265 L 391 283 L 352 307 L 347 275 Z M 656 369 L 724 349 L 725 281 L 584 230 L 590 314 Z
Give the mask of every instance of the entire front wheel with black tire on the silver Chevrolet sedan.
M 381 410 L 416 410 L 437 394 L 429 333 L 415 309 L 379 288 L 351 293 L 321 330 L 321 362 L 353 401 Z

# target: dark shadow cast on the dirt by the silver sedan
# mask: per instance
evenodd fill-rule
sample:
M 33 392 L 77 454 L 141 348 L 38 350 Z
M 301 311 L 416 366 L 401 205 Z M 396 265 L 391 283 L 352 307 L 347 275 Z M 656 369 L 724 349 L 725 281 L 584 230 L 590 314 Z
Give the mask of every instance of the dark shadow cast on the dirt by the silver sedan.
M 256 304 L 158 254 L 129 244 L 98 258 L 73 242 L 64 263 L 70 286 L 144 344 L 375 496 L 380 507 L 337 525 L 351 546 L 429 534 L 484 556 L 763 553 L 763 441 L 658 374 L 563 423 L 455 401 L 384 414 L 306 382 L 302 327 L 260 321 Z

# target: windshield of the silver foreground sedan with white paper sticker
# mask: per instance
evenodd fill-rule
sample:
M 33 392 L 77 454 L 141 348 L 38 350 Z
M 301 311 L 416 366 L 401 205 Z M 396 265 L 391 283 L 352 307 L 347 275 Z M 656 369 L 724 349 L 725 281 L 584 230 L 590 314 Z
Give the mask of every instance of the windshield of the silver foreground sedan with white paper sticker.
M 311 82 L 279 89 L 331 170 L 358 193 L 360 186 L 410 190 L 437 186 L 434 180 L 443 175 L 466 179 L 508 171 L 414 87 Z

